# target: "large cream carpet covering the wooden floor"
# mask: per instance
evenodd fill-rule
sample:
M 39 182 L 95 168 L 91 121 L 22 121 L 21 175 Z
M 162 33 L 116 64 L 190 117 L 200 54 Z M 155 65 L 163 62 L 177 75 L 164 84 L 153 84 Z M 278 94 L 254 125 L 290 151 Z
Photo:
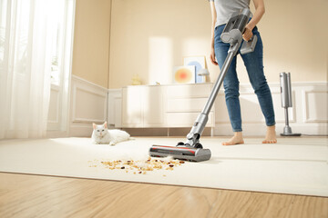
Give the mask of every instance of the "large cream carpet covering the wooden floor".
M 101 162 L 147 160 L 152 144 L 175 145 L 184 138 L 142 138 L 109 146 L 89 138 L 0 141 L 0 172 L 34 173 L 139 183 L 163 183 L 268 193 L 328 196 L 327 138 L 280 138 L 278 144 L 222 146 L 224 138 L 203 137 L 210 161 L 167 170 L 111 170 Z

